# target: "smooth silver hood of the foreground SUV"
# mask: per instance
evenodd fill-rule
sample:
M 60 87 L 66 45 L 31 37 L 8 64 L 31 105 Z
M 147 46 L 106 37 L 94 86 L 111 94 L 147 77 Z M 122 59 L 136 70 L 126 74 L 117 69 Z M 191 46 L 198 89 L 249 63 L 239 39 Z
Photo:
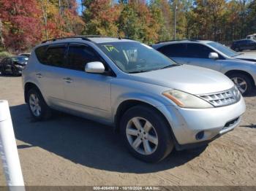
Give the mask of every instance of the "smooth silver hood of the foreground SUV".
M 197 95 L 221 92 L 234 85 L 229 78 L 218 71 L 188 65 L 130 74 L 130 78 Z

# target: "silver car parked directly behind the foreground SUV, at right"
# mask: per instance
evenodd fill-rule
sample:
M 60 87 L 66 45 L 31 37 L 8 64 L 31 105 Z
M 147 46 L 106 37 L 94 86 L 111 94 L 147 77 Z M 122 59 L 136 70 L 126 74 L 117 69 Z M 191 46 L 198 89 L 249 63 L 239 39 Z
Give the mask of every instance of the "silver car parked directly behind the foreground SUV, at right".
M 177 63 L 214 69 L 233 80 L 238 90 L 246 95 L 255 88 L 255 62 L 243 61 L 241 53 L 211 41 L 181 40 L 152 45 Z M 249 59 L 249 58 L 248 58 Z

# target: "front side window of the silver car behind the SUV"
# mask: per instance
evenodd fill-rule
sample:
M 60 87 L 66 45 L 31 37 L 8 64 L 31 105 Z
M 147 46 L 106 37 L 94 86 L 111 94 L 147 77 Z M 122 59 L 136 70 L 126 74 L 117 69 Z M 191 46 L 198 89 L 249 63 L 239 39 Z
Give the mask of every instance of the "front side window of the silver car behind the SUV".
M 208 58 L 209 53 L 214 52 L 211 48 L 202 44 L 187 44 L 187 58 Z

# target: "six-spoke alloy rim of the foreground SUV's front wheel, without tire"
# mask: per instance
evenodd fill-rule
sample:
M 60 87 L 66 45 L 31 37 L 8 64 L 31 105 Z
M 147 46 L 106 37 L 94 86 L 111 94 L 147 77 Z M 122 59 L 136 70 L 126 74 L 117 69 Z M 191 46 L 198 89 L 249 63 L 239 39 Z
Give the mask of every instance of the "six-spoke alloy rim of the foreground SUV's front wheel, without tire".
M 133 117 L 127 123 L 126 134 L 129 144 L 142 155 L 151 155 L 158 145 L 157 131 L 143 117 Z

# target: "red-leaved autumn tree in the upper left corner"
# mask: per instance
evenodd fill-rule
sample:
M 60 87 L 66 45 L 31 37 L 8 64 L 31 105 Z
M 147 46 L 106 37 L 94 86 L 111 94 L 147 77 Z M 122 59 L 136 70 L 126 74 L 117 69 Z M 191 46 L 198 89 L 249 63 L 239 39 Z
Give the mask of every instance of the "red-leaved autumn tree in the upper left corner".
M 7 48 L 25 50 L 41 39 L 42 27 L 37 20 L 39 7 L 35 1 L 1 0 L 0 15 Z

